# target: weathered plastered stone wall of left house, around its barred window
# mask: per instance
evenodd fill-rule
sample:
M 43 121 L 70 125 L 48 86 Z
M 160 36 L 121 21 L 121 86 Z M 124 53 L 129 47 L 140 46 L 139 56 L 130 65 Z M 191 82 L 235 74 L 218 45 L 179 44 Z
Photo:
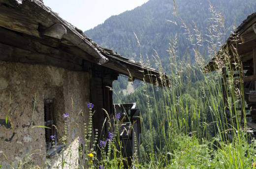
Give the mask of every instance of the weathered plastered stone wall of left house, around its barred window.
M 58 139 L 64 135 L 63 113 L 69 113 L 68 142 L 74 145 L 72 151 L 78 153 L 75 142 L 77 137 L 83 137 L 82 125 L 88 122 L 89 73 L 0 62 L 0 164 L 15 166 L 19 160 L 30 160 L 28 156 L 35 164 L 45 162 L 45 129 L 32 128 L 44 126 L 44 99 L 54 100 Z M 74 159 L 71 161 L 78 163 Z

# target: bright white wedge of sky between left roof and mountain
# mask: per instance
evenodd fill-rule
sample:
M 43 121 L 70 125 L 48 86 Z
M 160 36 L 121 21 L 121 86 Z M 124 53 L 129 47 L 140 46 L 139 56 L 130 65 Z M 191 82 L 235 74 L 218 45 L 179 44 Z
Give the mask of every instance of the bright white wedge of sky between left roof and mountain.
M 112 15 L 142 5 L 148 0 L 43 0 L 54 12 L 83 31 L 96 27 Z

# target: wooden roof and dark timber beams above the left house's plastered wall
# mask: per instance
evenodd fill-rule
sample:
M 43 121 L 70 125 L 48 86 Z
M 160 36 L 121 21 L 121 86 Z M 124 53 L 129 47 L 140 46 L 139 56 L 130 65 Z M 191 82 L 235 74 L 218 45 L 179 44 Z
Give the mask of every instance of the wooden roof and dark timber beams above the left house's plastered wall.
M 19 58 L 5 56 L 1 60 L 45 63 L 76 71 L 87 68 L 87 62 L 90 62 L 127 75 L 130 81 L 138 79 L 153 84 L 158 81 L 158 84 L 162 84 L 165 79 L 168 79 L 164 74 L 160 76 L 160 72 L 155 69 L 129 60 L 110 49 L 100 47 L 84 35 L 82 30 L 64 21 L 40 0 L 1 0 L 0 4 L 0 26 L 2 28 L 0 40 L 4 40 L 6 44 L 6 39 L 9 39 L 10 45 L 18 41 L 20 43 L 15 47 L 31 53 L 39 53 L 33 58 L 23 57 L 24 52 L 17 49 L 14 52 L 21 54 Z M 17 37 L 14 33 L 7 34 L 6 29 L 16 31 L 23 37 Z M 7 35 L 9 36 L 6 37 Z M 30 38 L 27 36 L 33 39 L 29 41 Z M 28 46 L 31 46 L 33 51 L 29 50 Z M 56 48 L 59 50 L 57 51 Z M 4 49 L 4 46 L 1 46 L 1 49 Z M 52 54 L 52 59 L 48 58 L 49 53 Z M 58 54 L 62 57 L 58 57 Z M 60 64 L 60 60 L 65 64 Z

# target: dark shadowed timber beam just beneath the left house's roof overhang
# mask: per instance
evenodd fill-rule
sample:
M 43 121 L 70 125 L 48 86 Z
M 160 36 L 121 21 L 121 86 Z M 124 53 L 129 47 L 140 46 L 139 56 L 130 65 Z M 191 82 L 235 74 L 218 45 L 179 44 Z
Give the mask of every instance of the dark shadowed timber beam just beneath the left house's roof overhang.
M 48 37 L 36 38 L 0 27 L 0 43 L 45 55 L 62 56 L 71 63 L 79 58 L 96 63 L 96 59 L 76 46 L 66 46 Z M 51 47 L 53 46 L 53 47 Z

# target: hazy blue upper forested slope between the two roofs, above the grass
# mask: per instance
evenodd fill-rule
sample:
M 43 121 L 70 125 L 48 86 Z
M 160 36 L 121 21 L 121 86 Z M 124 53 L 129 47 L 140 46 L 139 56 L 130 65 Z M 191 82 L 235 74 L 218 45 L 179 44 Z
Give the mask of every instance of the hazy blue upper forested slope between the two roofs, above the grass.
M 246 0 L 246 3 L 243 3 L 244 1 L 211 0 L 216 11 L 221 12 L 224 17 L 227 35 L 249 14 L 256 11 L 256 0 Z M 176 34 L 180 56 L 186 53 L 187 48 L 191 49 L 191 43 L 184 34 L 184 23 L 192 29 L 194 22 L 203 37 L 208 38 L 206 35 L 210 35 L 210 32 L 206 28 L 211 17 L 208 0 L 149 0 L 131 11 L 110 17 L 103 24 L 85 31 L 85 34 L 99 45 L 112 48 L 137 61 L 140 51 L 143 56 L 148 55 L 149 59 L 153 60 L 154 49 L 160 58 L 166 59 L 169 39 L 174 38 Z M 139 39 L 141 49 L 134 33 Z

